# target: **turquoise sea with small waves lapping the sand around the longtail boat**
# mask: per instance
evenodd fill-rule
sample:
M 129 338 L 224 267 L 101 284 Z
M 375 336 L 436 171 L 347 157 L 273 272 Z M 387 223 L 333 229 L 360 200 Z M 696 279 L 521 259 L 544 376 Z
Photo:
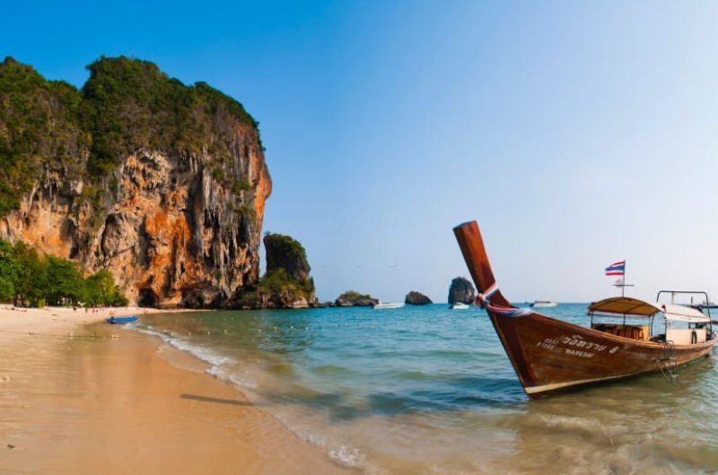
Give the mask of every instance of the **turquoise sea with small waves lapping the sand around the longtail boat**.
M 587 323 L 585 304 L 542 311 Z M 718 470 L 715 358 L 678 384 L 643 376 L 530 401 L 477 308 L 165 314 L 134 328 L 367 473 Z

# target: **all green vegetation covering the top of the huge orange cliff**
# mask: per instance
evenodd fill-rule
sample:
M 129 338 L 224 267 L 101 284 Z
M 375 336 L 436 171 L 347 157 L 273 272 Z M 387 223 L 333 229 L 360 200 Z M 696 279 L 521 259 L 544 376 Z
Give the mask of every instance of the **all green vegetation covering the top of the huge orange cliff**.
M 239 102 L 125 56 L 102 56 L 87 68 L 90 78 L 77 91 L 11 57 L 0 63 L 0 215 L 19 206 L 43 168 L 92 177 L 111 192 L 111 171 L 141 148 L 206 153 L 223 183 L 234 185 L 236 177 L 224 176 L 226 161 L 250 144 L 238 143 L 233 127 L 246 125 L 258 138 L 258 122 Z M 84 198 L 99 203 L 101 194 Z

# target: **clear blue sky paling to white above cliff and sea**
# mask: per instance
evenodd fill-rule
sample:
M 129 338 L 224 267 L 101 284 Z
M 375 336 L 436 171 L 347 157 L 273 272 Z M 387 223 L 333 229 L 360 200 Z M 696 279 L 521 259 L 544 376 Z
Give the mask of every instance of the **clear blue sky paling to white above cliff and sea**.
M 514 300 L 610 295 L 624 258 L 639 296 L 718 298 L 717 24 L 713 2 L 14 2 L 0 55 L 77 85 L 136 56 L 239 99 L 265 229 L 322 299 L 445 301 L 475 218 Z

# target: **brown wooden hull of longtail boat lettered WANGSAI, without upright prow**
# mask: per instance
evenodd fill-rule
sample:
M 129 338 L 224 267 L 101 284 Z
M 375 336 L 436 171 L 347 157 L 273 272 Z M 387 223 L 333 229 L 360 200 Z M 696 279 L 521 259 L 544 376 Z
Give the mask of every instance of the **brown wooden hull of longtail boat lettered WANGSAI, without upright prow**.
M 532 398 L 587 384 L 659 371 L 662 343 L 637 341 L 569 324 L 546 315 L 496 315 L 491 322 Z M 709 356 L 715 340 L 676 345 L 679 366 Z

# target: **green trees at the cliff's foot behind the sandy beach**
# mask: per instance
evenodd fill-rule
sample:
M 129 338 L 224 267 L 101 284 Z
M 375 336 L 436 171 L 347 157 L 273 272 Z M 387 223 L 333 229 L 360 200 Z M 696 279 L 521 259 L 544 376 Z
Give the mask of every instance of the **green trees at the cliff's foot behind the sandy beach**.
M 44 305 L 126 306 L 127 298 L 112 274 L 99 271 L 83 278 L 77 263 L 40 256 L 22 241 L 0 239 L 0 301 L 29 307 Z

